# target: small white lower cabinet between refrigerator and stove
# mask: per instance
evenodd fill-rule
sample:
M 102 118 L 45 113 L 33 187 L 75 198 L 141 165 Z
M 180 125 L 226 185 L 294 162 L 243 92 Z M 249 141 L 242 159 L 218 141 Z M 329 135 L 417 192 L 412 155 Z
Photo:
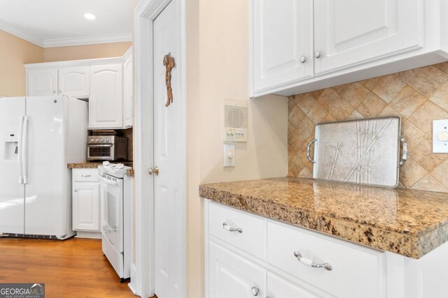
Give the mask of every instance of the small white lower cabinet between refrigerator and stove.
M 100 208 L 98 170 L 73 169 L 73 230 L 78 236 L 99 237 Z

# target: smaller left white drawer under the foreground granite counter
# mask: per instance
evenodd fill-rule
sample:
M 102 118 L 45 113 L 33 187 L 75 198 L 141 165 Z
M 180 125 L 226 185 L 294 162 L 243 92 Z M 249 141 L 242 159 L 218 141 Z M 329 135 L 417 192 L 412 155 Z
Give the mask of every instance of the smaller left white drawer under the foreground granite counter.
M 211 203 L 209 234 L 265 260 L 265 220 L 258 216 Z

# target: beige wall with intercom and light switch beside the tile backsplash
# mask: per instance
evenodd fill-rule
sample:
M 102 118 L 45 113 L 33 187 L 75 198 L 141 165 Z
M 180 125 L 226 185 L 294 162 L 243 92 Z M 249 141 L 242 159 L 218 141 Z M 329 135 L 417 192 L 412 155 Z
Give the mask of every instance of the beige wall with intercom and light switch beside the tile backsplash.
M 187 3 L 188 297 L 203 297 L 204 244 L 198 185 L 287 174 L 287 98 L 248 98 L 248 1 Z M 249 104 L 247 143 L 223 167 L 223 100 Z M 192 133 L 195 132 L 195 133 Z

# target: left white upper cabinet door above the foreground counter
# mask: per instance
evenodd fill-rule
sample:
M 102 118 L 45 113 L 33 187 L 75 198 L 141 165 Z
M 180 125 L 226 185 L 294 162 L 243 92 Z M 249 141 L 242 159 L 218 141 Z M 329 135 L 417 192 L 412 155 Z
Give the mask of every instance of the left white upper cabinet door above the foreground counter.
M 312 0 L 253 0 L 252 9 L 255 95 L 311 77 Z

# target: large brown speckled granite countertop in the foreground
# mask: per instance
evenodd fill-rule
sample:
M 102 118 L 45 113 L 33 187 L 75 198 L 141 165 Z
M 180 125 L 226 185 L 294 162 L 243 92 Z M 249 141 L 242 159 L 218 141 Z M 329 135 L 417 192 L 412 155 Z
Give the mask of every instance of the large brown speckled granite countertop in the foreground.
M 448 241 L 448 194 L 274 178 L 200 186 L 200 197 L 410 258 Z

